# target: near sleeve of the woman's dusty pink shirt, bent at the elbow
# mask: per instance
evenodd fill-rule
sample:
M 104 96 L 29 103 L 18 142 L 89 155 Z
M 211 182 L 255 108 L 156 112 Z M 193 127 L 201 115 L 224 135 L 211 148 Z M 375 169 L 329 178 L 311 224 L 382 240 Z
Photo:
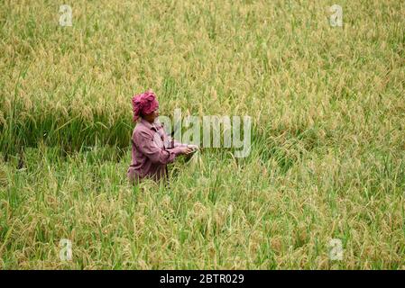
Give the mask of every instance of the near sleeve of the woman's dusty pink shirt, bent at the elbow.
M 133 133 L 133 142 L 152 163 L 168 164 L 181 153 L 181 148 L 159 148 L 153 141 L 153 136 L 144 130 Z

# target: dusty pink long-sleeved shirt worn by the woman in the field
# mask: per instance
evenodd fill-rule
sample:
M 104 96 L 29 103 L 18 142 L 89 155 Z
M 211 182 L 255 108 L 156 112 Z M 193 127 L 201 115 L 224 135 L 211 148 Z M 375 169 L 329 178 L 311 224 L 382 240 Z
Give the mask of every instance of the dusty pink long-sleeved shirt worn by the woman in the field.
M 167 164 L 173 162 L 184 146 L 187 145 L 170 139 L 161 124 L 141 119 L 133 129 L 129 180 L 140 181 L 144 177 L 159 180 L 167 176 Z

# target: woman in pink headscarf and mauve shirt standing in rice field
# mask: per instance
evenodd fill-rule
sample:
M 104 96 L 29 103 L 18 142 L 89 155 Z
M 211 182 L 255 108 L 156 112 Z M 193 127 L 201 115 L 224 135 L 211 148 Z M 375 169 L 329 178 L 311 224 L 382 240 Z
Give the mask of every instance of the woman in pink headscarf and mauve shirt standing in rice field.
M 154 180 L 167 177 L 168 163 L 198 148 L 197 145 L 181 144 L 170 139 L 157 121 L 158 116 L 159 103 L 152 91 L 133 96 L 133 121 L 141 121 L 132 136 L 132 161 L 127 173 L 132 183 L 145 177 Z

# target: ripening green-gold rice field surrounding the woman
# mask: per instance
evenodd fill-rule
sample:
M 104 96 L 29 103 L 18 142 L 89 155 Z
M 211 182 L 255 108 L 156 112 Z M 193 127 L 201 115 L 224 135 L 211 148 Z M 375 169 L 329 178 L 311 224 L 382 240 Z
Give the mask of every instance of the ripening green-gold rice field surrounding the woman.
M 0 4 L 0 268 L 405 268 L 403 1 Z M 150 87 L 250 115 L 249 156 L 132 187 Z

